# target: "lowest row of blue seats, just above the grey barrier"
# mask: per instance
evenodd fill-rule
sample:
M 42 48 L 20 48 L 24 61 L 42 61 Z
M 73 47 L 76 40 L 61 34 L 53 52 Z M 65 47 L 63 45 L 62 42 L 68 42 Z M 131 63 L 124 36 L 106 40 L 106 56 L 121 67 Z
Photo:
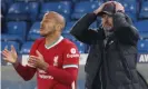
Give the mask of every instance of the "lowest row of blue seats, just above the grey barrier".
M 80 53 L 88 52 L 87 44 L 83 44 L 82 42 L 77 40 L 72 40 L 72 41 L 78 47 Z M 17 41 L 7 41 L 7 42 L 1 41 L 1 50 L 3 49 L 10 50 L 11 46 L 13 46 L 18 53 L 28 55 L 32 44 L 33 44 L 33 41 L 26 41 L 23 42 L 23 44 L 20 44 Z M 137 47 L 139 52 L 148 52 L 148 40 L 139 40 Z

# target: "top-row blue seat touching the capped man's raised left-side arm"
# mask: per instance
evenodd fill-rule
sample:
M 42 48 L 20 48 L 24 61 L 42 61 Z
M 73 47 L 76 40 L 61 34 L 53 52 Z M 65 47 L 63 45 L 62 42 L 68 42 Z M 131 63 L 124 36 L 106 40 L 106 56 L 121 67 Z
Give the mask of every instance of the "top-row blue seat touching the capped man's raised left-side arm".
M 95 9 L 97 9 L 102 2 L 101 1 L 81 1 L 76 3 L 73 13 L 71 16 L 71 19 L 78 20 L 80 19 L 85 13 L 92 12 Z

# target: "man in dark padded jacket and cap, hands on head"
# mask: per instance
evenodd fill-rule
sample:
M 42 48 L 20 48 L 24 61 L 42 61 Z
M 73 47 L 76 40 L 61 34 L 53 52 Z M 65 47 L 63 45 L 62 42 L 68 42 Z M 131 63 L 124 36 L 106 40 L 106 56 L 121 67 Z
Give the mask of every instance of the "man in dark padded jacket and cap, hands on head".
M 98 30 L 88 29 L 97 17 L 101 17 Z M 148 89 L 136 69 L 139 36 L 119 2 L 105 2 L 87 13 L 70 33 L 90 46 L 86 89 Z

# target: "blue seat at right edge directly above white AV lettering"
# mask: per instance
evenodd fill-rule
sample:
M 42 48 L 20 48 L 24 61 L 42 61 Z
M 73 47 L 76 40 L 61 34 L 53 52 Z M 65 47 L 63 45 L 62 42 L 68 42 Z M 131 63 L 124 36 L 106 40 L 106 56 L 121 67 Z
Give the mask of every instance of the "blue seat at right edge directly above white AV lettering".
M 148 40 L 139 40 L 137 47 L 139 52 L 148 52 Z

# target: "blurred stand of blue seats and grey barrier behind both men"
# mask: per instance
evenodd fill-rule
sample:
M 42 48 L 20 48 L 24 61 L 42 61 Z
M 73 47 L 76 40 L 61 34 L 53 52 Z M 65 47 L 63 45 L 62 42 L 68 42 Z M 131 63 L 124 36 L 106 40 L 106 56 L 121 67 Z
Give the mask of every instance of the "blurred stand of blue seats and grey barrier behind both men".
M 73 41 L 81 55 L 87 55 L 89 47 L 70 36 L 71 27 L 85 13 L 92 12 L 108 0 L 1 0 L 1 50 L 13 44 L 21 58 L 28 55 L 32 42 L 40 38 L 40 21 L 47 11 L 61 13 L 67 26 L 62 32 L 65 38 Z M 138 71 L 148 80 L 148 0 L 116 0 L 125 6 L 126 13 L 138 29 Z M 100 19 L 90 28 L 97 29 Z M 81 58 L 86 60 L 86 58 Z M 21 61 L 21 60 L 20 60 Z M 85 89 L 85 62 L 80 63 L 78 89 Z M 36 77 L 23 81 L 12 66 L 1 59 L 1 89 L 36 89 Z

